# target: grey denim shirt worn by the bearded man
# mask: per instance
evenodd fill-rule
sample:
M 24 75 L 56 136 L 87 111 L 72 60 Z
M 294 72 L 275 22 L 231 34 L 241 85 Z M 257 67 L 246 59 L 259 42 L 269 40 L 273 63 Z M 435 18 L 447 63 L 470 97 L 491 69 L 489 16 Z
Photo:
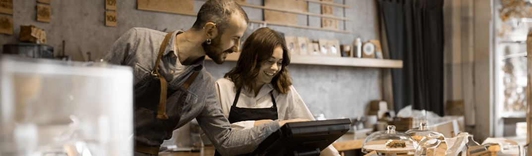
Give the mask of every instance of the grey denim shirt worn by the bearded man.
M 177 56 L 173 52 L 175 47 L 173 43 L 176 35 L 183 32 L 173 32 L 169 44 L 163 52 L 161 63 L 158 67 L 159 73 L 164 76 L 169 84 L 177 86 L 184 84 L 185 80 L 194 71 L 200 71 L 200 74 L 192 86 L 188 88 L 188 94 L 193 96 L 187 97 L 187 102 L 182 104 L 182 113 L 171 112 L 172 109 L 167 109 L 168 114 L 177 113 L 180 116 L 179 121 L 172 121 L 173 124 L 169 125 L 175 125 L 171 127 L 171 130 L 178 129 L 196 118 L 205 135 L 209 137 L 215 148 L 222 155 L 252 152 L 266 137 L 279 129 L 279 122 L 265 123 L 246 131 L 231 130 L 229 121 L 223 115 L 220 107 L 214 79 L 203 66 L 205 57 L 200 58 L 192 65 L 192 68 L 188 68 L 174 79 L 173 70 L 176 69 L 176 66 L 180 66 L 180 62 L 177 62 Z M 156 30 L 134 27 L 113 43 L 105 52 L 103 60 L 115 65 L 133 67 L 135 85 L 138 85 L 139 80 L 149 75 L 148 73 L 153 70 L 159 48 L 166 34 Z M 167 99 L 167 108 L 171 108 L 171 105 L 175 104 L 178 104 L 178 100 Z M 138 114 L 135 114 L 135 116 L 138 116 Z M 142 120 L 142 118 L 137 118 L 137 120 Z M 170 139 L 171 130 L 154 129 L 153 136 L 148 137 L 140 134 L 140 136 L 135 136 L 135 141 L 158 147 L 163 140 Z M 136 155 L 138 154 L 136 152 Z

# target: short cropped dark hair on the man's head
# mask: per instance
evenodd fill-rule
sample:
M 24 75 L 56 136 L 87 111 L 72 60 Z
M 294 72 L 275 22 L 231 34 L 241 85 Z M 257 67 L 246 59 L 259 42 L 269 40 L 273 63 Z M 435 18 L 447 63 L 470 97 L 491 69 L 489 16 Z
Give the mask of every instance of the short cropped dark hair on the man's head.
M 229 19 L 233 13 L 238 13 L 244 17 L 246 23 L 250 22 L 246 12 L 232 0 L 209 0 L 205 2 L 198 12 L 196 22 L 192 25 L 195 30 L 203 29 L 207 22 L 216 23 L 218 31 L 223 33 L 228 27 Z

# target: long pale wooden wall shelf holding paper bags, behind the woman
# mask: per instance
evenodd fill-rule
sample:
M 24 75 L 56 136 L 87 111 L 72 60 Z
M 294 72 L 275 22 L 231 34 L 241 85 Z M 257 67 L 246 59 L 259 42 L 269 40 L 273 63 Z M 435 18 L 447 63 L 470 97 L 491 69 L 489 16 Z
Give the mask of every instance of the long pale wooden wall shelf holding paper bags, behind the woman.
M 237 61 L 239 52 L 231 53 L 226 61 Z M 206 59 L 211 60 L 209 57 Z M 328 56 L 292 56 L 290 63 L 302 65 L 326 65 L 326 66 L 351 66 L 373 68 L 403 68 L 402 60 L 370 59 L 370 58 L 347 58 Z

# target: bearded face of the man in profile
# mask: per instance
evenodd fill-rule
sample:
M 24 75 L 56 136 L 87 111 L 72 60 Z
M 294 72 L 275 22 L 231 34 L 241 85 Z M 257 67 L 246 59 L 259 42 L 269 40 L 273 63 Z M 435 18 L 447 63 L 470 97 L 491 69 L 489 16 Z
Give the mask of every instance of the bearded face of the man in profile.
M 205 54 L 218 64 L 226 60 L 227 54 L 239 51 L 240 38 L 247 28 L 246 20 L 238 13 L 231 15 L 228 24 L 225 32 L 215 36 L 211 44 L 206 41 L 202 43 Z

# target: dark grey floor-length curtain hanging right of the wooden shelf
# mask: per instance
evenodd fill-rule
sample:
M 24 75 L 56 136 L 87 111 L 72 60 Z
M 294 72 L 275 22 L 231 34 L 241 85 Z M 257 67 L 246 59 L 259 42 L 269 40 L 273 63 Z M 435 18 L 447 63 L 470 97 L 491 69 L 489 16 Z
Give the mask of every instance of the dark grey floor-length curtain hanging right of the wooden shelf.
M 377 0 L 392 69 L 394 109 L 412 105 L 444 115 L 443 0 Z

